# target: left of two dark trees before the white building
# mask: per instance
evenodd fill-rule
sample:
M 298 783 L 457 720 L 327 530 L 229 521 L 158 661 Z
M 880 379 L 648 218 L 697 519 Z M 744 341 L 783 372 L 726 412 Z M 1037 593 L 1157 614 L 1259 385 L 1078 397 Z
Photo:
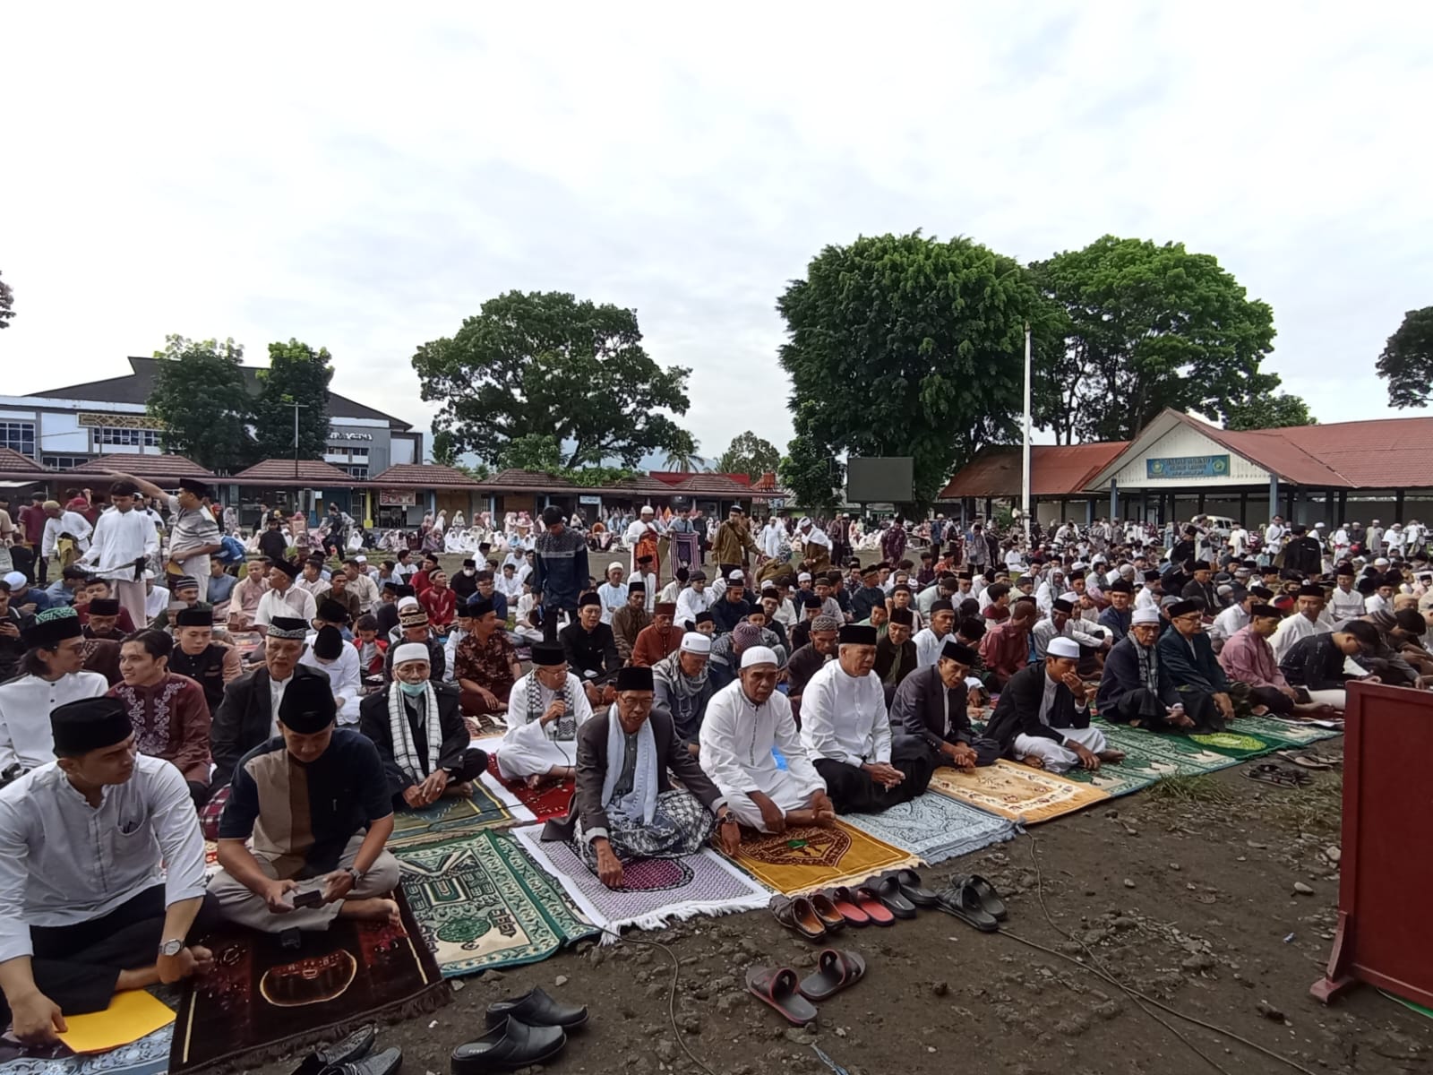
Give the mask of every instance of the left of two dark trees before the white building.
M 242 470 L 254 460 L 254 401 L 244 384 L 244 347 L 234 340 L 165 337 L 148 411 L 165 424 L 165 452 L 209 470 Z

